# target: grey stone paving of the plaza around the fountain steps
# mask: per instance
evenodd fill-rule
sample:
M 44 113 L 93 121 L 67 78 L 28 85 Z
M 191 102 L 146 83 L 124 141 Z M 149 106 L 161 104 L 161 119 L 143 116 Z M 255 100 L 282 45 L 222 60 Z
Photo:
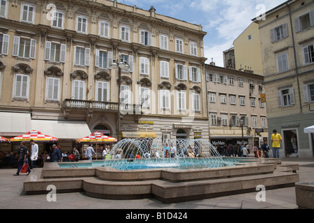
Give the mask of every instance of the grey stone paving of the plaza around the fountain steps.
M 283 158 L 285 164 L 299 164 L 300 183 L 314 181 L 314 159 Z M 107 200 L 87 196 L 84 192 L 57 194 L 56 201 L 47 201 L 47 194 L 26 195 L 22 192 L 26 174 L 13 176 L 16 169 L 0 169 L 0 208 L 1 209 L 295 209 L 295 188 L 267 190 L 266 201 L 258 202 L 258 192 L 234 194 L 225 197 L 186 201 L 182 203 L 163 203 L 157 199 Z M 48 191 L 47 191 L 48 193 Z

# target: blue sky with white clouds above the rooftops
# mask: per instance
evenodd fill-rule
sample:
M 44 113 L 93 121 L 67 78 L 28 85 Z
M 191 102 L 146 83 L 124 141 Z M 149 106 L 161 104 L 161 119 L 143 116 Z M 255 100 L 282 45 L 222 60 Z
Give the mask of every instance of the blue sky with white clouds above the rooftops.
M 223 67 L 223 51 L 233 47 L 233 41 L 251 24 L 251 20 L 286 0 L 118 0 L 129 6 L 201 24 L 204 55 L 210 63 Z

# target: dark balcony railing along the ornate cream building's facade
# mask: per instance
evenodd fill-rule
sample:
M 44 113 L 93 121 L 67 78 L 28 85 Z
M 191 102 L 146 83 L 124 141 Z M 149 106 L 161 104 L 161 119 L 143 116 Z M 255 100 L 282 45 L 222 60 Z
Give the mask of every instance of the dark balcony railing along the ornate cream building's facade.
M 93 100 L 74 100 L 66 99 L 63 101 L 63 109 L 91 110 L 103 112 L 118 112 L 117 102 L 100 102 Z M 142 114 L 142 105 L 124 104 L 120 105 L 121 114 Z

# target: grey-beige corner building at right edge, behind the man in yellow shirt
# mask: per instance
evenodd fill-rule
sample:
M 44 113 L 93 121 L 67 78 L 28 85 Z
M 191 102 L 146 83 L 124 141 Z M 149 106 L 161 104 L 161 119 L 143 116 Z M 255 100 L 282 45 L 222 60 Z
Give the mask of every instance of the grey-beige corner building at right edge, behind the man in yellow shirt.
M 269 137 L 283 137 L 281 156 L 313 157 L 314 1 L 290 0 L 269 10 L 259 25 Z

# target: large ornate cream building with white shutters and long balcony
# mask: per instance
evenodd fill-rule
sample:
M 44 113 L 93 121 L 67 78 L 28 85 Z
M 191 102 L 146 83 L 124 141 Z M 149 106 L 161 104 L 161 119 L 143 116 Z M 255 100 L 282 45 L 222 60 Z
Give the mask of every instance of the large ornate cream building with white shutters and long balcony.
M 202 26 L 107 0 L 0 7 L 3 137 L 209 138 Z

